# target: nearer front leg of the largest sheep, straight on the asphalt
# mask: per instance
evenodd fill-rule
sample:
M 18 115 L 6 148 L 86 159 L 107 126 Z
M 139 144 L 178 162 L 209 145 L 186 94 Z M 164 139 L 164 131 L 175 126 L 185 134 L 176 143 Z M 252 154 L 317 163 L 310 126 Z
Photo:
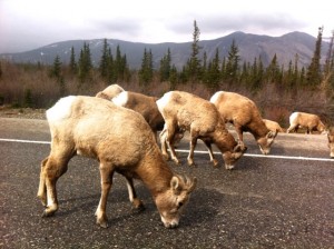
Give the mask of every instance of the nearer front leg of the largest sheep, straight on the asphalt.
M 95 215 L 97 217 L 96 222 L 102 228 L 108 227 L 106 208 L 107 208 L 108 195 L 112 185 L 112 176 L 114 176 L 112 167 L 110 166 L 108 167 L 108 165 L 100 162 L 101 197 Z

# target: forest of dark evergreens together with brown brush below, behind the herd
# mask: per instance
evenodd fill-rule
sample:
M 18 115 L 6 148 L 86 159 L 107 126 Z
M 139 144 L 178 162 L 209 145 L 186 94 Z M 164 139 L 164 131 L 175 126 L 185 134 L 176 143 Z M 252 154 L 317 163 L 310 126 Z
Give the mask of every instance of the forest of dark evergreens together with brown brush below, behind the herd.
M 49 108 L 69 94 L 95 96 L 107 86 L 118 83 L 125 90 L 160 97 L 170 90 L 183 90 L 209 99 L 218 90 L 234 91 L 252 99 L 264 118 L 288 126 L 293 111 L 318 114 L 326 124 L 334 122 L 334 31 L 326 58 L 321 58 L 323 28 L 318 29 L 310 66 L 298 66 L 298 54 L 288 64 L 278 64 L 275 54 L 267 67 L 262 58 L 240 61 L 238 46 L 232 42 L 228 56 L 220 58 L 216 50 L 212 60 L 199 46 L 200 31 L 194 21 L 191 54 L 177 69 L 170 50 L 154 68 L 154 54 L 145 49 L 141 67 L 129 69 L 127 54 L 118 46 L 111 51 L 105 39 L 98 67 L 92 66 L 88 43 L 71 49 L 70 62 L 59 56 L 52 64 L 13 63 L 0 60 L 0 106 L 11 108 Z M 199 57 L 199 53 L 203 54 Z M 324 62 L 322 62 L 324 61 Z

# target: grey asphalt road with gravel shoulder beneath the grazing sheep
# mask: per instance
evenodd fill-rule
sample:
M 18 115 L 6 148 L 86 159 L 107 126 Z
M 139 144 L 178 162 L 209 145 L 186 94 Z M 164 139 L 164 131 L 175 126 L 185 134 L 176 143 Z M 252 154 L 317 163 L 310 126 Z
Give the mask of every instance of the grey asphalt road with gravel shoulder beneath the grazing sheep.
M 334 160 L 325 136 L 279 133 L 271 157 L 257 157 L 246 135 L 247 155 L 233 171 L 213 168 L 206 153 L 196 153 L 197 167 L 190 168 L 179 152 L 184 165 L 170 167 L 196 176 L 198 185 L 176 229 L 163 226 L 139 181 L 146 210 L 132 210 L 117 175 L 109 228 L 98 227 L 98 163 L 82 157 L 58 181 L 58 212 L 41 218 L 39 167 L 50 148 L 39 141 L 49 140 L 43 120 L 0 119 L 0 248 L 334 248 Z

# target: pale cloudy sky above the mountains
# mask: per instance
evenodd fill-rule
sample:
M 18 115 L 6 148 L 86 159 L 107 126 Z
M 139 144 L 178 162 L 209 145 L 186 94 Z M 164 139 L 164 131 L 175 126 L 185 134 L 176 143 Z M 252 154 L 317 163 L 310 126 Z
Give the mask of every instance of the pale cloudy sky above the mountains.
M 331 0 L 0 0 L 0 53 L 77 39 L 193 41 L 195 20 L 199 40 L 334 30 Z

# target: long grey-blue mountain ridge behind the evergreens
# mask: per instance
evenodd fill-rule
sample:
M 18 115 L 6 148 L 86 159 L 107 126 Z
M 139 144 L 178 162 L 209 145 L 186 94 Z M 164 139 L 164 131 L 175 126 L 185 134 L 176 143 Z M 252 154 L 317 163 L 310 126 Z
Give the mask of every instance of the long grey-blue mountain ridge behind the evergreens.
M 313 57 L 316 42 L 316 38 L 297 31 L 286 33 L 282 37 L 258 36 L 238 31 L 218 39 L 199 41 L 199 46 L 203 48 L 200 50 L 202 54 L 199 54 L 200 58 L 203 52 L 206 51 L 208 60 L 213 59 L 217 48 L 220 59 L 227 57 L 233 40 L 235 40 L 239 49 L 242 62 L 253 63 L 254 59 L 261 56 L 264 66 L 268 66 L 276 53 L 278 62 L 284 64 L 285 68 L 288 67 L 289 61 L 294 63 L 296 54 L 298 54 L 298 66 L 307 67 Z M 108 39 L 107 41 L 114 56 L 117 46 L 119 46 L 121 53 L 127 57 L 130 69 L 140 68 L 145 48 L 151 50 L 156 68 L 159 66 L 160 59 L 167 53 L 168 48 L 171 53 L 171 63 L 178 69 L 187 62 L 191 52 L 191 42 L 140 43 L 116 39 Z M 68 63 L 71 48 L 75 48 L 76 59 L 78 59 L 84 42 L 89 43 L 92 62 L 97 66 L 101 58 L 104 39 L 61 41 L 26 52 L 2 53 L 0 58 L 13 62 L 41 62 L 51 64 L 58 54 L 63 63 Z M 325 58 L 327 49 L 328 43 L 323 42 L 322 58 Z

